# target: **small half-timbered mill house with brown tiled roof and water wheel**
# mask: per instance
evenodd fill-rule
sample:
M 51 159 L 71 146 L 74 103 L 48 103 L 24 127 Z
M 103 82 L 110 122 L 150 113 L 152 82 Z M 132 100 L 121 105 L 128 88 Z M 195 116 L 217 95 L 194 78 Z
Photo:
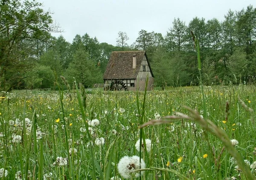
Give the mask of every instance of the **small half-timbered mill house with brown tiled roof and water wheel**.
M 104 87 L 112 90 L 153 89 L 154 75 L 145 51 L 113 51 L 104 73 Z

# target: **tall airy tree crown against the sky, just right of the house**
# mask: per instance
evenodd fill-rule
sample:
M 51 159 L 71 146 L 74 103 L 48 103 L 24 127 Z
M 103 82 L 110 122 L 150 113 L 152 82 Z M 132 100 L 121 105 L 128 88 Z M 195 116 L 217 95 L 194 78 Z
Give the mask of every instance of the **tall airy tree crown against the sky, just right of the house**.
M 187 40 L 187 27 L 185 22 L 181 21 L 180 18 L 174 18 L 172 25 L 173 27 L 167 32 L 166 43 L 169 46 L 168 49 L 180 51 L 183 49 L 183 44 Z

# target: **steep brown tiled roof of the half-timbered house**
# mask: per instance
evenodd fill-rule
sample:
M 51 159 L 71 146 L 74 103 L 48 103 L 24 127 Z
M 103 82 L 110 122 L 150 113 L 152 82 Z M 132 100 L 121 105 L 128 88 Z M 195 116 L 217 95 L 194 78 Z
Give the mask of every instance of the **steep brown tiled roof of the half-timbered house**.
M 136 68 L 132 68 L 133 55 L 136 54 Z M 145 51 L 113 51 L 109 58 L 103 79 L 136 79 Z

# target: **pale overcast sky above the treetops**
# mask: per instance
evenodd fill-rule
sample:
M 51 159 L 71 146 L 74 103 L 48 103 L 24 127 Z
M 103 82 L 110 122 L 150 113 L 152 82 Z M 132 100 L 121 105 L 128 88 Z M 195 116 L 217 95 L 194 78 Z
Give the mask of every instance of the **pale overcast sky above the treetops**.
M 256 0 L 38 0 L 44 10 L 50 10 L 52 19 L 64 32 L 60 34 L 72 43 L 76 34 L 88 33 L 100 43 L 116 46 L 119 31 L 130 38 L 131 45 L 140 30 L 162 33 L 172 27 L 174 18 L 186 24 L 193 17 L 207 20 L 224 20 L 228 10 L 240 11 L 250 4 L 256 8 Z

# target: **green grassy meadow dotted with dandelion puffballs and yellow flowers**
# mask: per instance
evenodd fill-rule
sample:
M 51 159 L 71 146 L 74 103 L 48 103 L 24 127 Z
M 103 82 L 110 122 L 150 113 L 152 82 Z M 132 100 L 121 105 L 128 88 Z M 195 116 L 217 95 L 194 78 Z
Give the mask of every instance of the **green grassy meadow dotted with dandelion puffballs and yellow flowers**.
M 0 97 L 0 179 L 254 178 L 256 128 L 251 109 L 256 105 L 256 87 L 206 86 L 204 95 L 205 107 L 196 86 L 146 94 L 99 89 L 12 91 Z M 184 106 L 227 134 L 229 139 L 224 140 L 241 154 L 241 166 L 251 177 L 238 166 L 239 157 L 230 154 L 227 142 L 203 129 Z M 172 118 L 175 115 L 180 118 Z M 169 122 L 140 129 L 150 120 Z M 143 170 L 137 171 L 140 167 Z

